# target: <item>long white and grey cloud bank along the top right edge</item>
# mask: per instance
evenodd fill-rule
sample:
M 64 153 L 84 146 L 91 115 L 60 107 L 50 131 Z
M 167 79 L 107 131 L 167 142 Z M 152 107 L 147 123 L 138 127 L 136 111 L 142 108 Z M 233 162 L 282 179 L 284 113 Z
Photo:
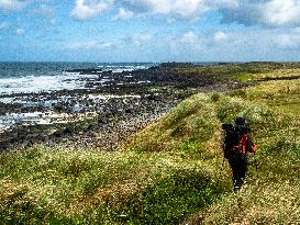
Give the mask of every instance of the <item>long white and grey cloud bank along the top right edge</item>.
M 300 0 L 121 0 L 122 9 L 135 14 L 168 14 L 195 20 L 219 11 L 223 22 L 245 25 L 300 25 Z

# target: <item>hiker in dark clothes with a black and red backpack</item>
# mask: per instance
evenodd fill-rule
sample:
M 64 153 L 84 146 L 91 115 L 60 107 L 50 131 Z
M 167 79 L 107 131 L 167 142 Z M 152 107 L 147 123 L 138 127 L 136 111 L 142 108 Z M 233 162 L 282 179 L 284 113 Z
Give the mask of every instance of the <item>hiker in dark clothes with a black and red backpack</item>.
M 235 124 L 222 124 L 225 130 L 225 140 L 223 145 L 224 157 L 233 173 L 233 189 L 237 191 L 244 183 L 247 171 L 247 153 L 256 153 L 257 148 L 253 144 L 249 127 L 244 117 L 236 117 Z

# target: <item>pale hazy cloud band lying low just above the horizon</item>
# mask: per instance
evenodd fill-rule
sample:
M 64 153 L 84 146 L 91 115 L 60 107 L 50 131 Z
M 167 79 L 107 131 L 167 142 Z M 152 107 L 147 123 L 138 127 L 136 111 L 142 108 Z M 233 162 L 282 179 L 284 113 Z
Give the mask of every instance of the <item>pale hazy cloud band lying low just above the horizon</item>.
M 219 32 L 223 32 L 226 40 L 215 42 L 213 37 L 218 32 L 189 30 L 181 34 L 138 33 L 107 42 L 78 41 L 69 43 L 67 47 L 73 47 L 80 56 L 87 54 L 87 57 L 92 55 L 95 58 L 109 57 L 112 60 L 299 60 L 300 34 L 295 30 L 284 32 L 282 29 L 242 27 Z

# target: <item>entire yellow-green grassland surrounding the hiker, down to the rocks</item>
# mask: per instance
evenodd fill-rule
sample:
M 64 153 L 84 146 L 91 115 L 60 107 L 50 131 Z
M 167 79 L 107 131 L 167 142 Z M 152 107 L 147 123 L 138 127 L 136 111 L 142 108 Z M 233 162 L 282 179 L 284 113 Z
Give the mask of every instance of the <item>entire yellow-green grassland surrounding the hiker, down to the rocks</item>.
M 263 66 L 258 71 L 254 71 L 255 66 L 249 67 L 251 72 L 242 76 L 243 80 L 285 74 L 277 66 Z M 229 68 L 223 76 L 238 77 L 236 70 L 249 69 Z M 289 68 L 288 74 L 299 75 L 297 68 Z M 0 221 L 3 224 L 299 221 L 299 82 L 268 81 L 227 94 L 199 93 L 129 139 L 118 153 L 34 146 L 2 155 Z M 232 122 L 236 115 L 248 119 L 259 153 L 258 179 L 251 165 L 247 183 L 234 194 L 227 164 L 222 167 L 220 123 Z

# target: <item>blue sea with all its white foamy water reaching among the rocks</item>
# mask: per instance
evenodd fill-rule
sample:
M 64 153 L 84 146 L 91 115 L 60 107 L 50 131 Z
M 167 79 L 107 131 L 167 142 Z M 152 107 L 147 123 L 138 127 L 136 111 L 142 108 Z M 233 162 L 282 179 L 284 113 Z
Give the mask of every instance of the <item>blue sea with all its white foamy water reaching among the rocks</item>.
M 99 71 L 122 72 L 136 69 L 147 69 L 156 64 L 153 63 L 5 63 L 0 61 L 0 108 L 1 103 L 21 103 L 26 105 L 43 105 L 47 108 L 43 99 L 37 98 L 34 102 L 27 102 L 22 93 L 52 92 L 59 90 L 84 89 L 86 79 L 99 76 Z M 81 75 L 78 70 L 97 69 L 97 74 Z M 18 97 L 20 95 L 21 97 Z M 65 97 L 67 98 L 67 97 Z M 98 97 L 95 101 L 101 99 Z M 68 100 L 68 99 L 67 99 Z M 62 99 L 62 101 L 67 101 Z M 22 108 L 21 106 L 21 108 Z M 80 105 L 75 105 L 74 111 Z M 5 113 L 5 108 L 0 109 L 0 134 L 11 128 L 14 124 L 51 124 L 66 121 L 64 114 L 34 111 L 27 113 Z M 3 113 L 4 112 L 4 113 Z

